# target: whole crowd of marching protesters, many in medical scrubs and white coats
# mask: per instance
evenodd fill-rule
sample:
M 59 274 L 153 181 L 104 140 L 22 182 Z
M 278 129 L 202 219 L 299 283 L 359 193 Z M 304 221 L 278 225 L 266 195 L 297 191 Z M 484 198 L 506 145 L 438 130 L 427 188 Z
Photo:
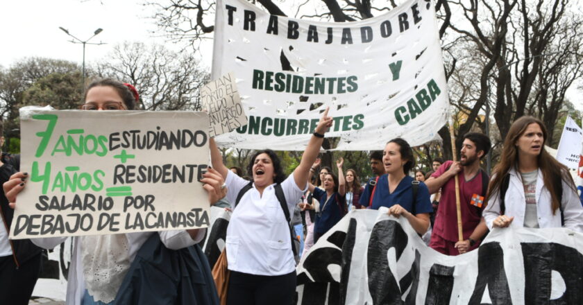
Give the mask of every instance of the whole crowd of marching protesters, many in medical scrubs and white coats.
M 105 79 L 87 88 L 81 109 L 133 110 L 138 102 L 135 88 Z M 219 304 L 219 299 L 226 304 L 292 304 L 298 257 L 349 211 L 358 209 L 384 207 L 387 214 L 407 219 L 430 247 L 447 255 L 474 250 L 493 227 L 568 227 L 583 232 L 583 207 L 575 184 L 566 167 L 544 150 L 548 137 L 539 119 L 524 116 L 514 122 L 492 177 L 480 167 L 491 149 L 490 140 L 471 132 L 462 137 L 459 162 L 433 159 L 429 173 L 414 171 L 416 159 L 407 141 L 390 139 L 384 150 L 371 153 L 373 177 L 364 185 L 353 168 L 344 171 L 342 158 L 335 160 L 336 173 L 321 166 L 318 155 L 332 121 L 328 110 L 323 112 L 300 164 L 289 176 L 269 149 L 258 150 L 246 172 L 227 168 L 210 139 L 212 168 L 201 180 L 208 198 L 196 200 L 233 211 L 225 241 L 230 271 L 226 295 L 219 297 L 211 266 L 198 247 L 206 230 L 171 230 L 75 237 L 67 304 L 193 304 L 193 299 L 196 304 Z M 17 200 L 29 175 L 19 172 L 17 157 L 3 154 L 0 179 L 4 223 L 0 226 L 0 304 L 28 304 L 40 273 L 41 248 L 51 249 L 64 238 L 9 241 L 12 209 L 31 204 Z M 294 238 L 301 241 L 299 249 Z M 203 283 L 176 284 L 144 273 L 163 270 L 167 261 L 161 257 L 194 259 L 199 267 L 196 278 Z

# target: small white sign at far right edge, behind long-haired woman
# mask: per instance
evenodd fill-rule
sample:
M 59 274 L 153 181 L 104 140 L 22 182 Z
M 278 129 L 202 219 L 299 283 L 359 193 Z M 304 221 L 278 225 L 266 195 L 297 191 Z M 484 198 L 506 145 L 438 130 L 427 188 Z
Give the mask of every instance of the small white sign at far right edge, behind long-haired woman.
M 582 149 L 583 132 L 571 116 L 567 116 L 557 147 L 557 161 L 570 170 L 575 170 L 579 167 L 579 155 Z

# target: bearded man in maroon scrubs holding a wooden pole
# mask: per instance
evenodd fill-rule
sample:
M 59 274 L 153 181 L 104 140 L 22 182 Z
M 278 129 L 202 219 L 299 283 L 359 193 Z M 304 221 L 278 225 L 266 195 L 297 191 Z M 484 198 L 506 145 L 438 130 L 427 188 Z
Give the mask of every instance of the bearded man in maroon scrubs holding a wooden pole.
M 429 246 L 447 255 L 458 255 L 480 245 L 487 233 L 482 219 L 484 197 L 488 191 L 488 174 L 480 168 L 480 159 L 490 150 L 490 139 L 484 134 L 464 135 L 459 162 L 446 161 L 425 181 L 430 193 L 441 188 L 441 200 Z M 455 175 L 459 180 L 459 201 L 462 210 L 463 241 L 458 241 Z

